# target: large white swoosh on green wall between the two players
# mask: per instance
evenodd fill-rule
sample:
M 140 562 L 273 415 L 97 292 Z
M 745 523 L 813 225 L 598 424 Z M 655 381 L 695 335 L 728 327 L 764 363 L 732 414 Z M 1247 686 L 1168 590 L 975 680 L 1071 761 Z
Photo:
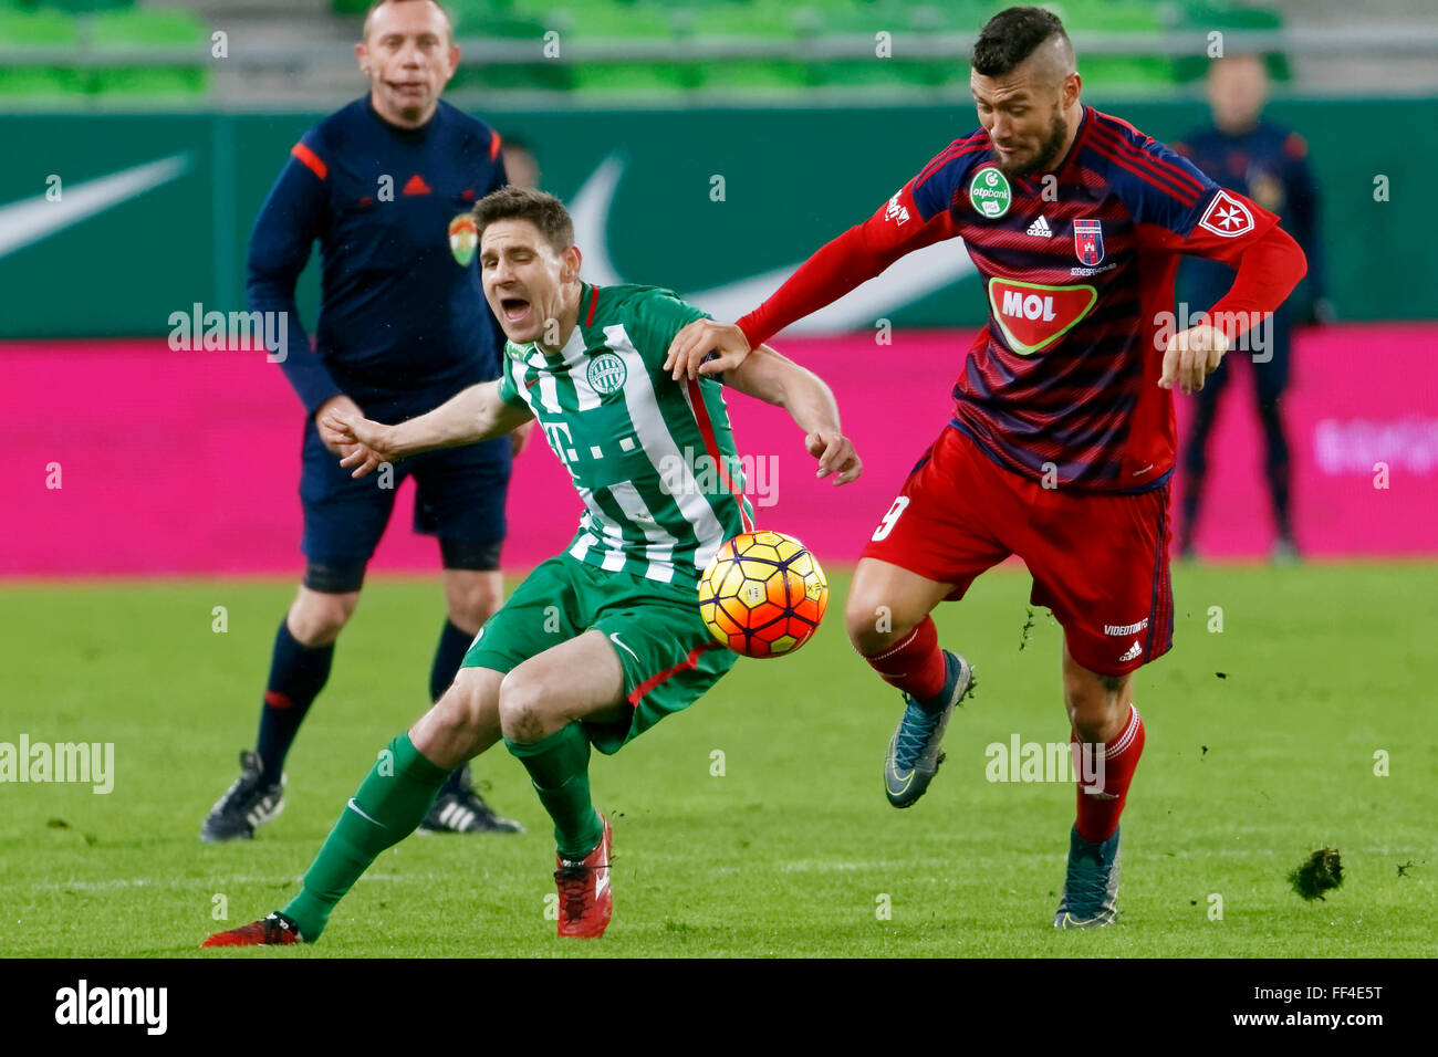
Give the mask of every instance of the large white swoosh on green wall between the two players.
M 584 252 L 584 278 L 597 286 L 624 282 L 608 253 L 607 226 L 610 206 L 624 174 L 624 163 L 610 155 L 569 200 L 574 240 Z M 777 267 L 707 290 L 682 295 L 716 319 L 733 321 L 758 308 L 794 275 L 798 265 Z M 785 328 L 792 334 L 837 334 L 873 326 L 886 312 L 926 298 L 935 290 L 974 273 L 974 262 L 963 252 L 962 239 L 925 246 L 899 259 L 866 283 L 856 286 L 833 305 Z

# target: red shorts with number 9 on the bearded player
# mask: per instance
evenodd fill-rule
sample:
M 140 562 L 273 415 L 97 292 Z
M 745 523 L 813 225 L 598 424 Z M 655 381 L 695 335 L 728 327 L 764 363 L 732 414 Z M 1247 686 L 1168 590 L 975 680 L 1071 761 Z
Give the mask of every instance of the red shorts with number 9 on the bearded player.
M 1168 485 L 1136 495 L 1044 488 L 951 426 L 863 557 L 952 584 L 953 600 L 1017 554 L 1034 577 L 1030 600 L 1053 610 L 1074 660 L 1122 676 L 1173 644 L 1168 505 Z

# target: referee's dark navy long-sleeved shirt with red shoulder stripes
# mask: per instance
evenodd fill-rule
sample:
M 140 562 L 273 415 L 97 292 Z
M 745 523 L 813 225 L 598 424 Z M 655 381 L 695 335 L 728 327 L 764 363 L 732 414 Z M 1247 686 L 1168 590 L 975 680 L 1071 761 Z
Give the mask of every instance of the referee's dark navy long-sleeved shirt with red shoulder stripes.
M 345 394 L 368 417 L 395 421 L 499 377 L 505 339 L 479 255 L 457 263 L 449 224 L 505 183 L 499 135 L 443 101 L 411 131 L 365 96 L 295 144 L 250 234 L 247 293 L 250 311 L 289 314 L 280 367 L 308 414 Z M 316 239 L 312 351 L 295 283 Z

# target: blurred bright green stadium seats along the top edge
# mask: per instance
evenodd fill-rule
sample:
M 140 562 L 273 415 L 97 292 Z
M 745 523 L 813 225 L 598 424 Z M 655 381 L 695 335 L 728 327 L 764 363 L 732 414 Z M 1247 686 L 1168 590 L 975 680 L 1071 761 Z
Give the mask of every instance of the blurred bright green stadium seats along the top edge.
M 342 19 L 357 19 L 370 0 L 329 0 Z M 656 102 L 703 92 L 723 98 L 797 98 L 814 88 L 861 88 L 879 95 L 956 93 L 968 82 L 965 56 L 912 58 L 906 42 L 933 35 L 969 36 L 1004 0 L 447 0 L 462 37 L 525 42 L 535 60 L 470 63 L 454 88 L 487 92 L 574 92 L 597 104 L 637 98 Z M 1055 6 L 1076 33 L 1106 39 L 1182 30 L 1271 30 L 1276 10 L 1237 0 L 1064 0 Z M 653 49 L 666 42 L 752 42 L 749 58 L 666 60 L 546 59 L 545 35 L 558 33 L 561 49 L 577 40 Z M 892 33 L 892 58 L 869 58 L 867 42 Z M 815 42 L 844 39 L 863 45 L 856 58 L 808 58 Z M 55 47 L 91 53 L 160 49 L 177 53 L 161 63 L 13 65 L 0 63 L 0 101 L 88 102 L 207 98 L 207 29 L 198 16 L 174 7 L 151 9 L 137 0 L 0 0 L 0 52 Z M 191 59 L 193 56 L 193 59 Z M 1080 55 L 1089 91 L 1163 91 L 1204 75 L 1204 55 Z M 1276 79 L 1288 78 L 1281 55 L 1270 56 Z

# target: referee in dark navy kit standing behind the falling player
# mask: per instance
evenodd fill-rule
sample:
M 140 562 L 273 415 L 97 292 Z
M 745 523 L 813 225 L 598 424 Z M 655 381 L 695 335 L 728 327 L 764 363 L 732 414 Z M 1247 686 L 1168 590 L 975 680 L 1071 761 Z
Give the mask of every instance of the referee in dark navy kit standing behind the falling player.
M 354 480 L 344 446 L 316 426 L 336 407 L 381 421 L 429 411 L 499 377 L 503 334 L 485 302 L 473 243 L 450 223 L 506 183 L 499 135 L 440 102 L 459 49 L 434 0 L 378 0 L 355 46 L 370 93 L 305 132 L 250 236 L 249 302 L 288 314 L 285 377 L 305 406 L 299 495 L 305 577 L 279 626 L 259 741 L 204 820 L 204 841 L 253 837 L 285 805 L 285 755 L 329 677 L 335 639 L 360 601 L 365 565 L 416 479 L 414 528 L 439 536 L 449 607 L 430 697 L 502 601 L 499 549 L 512 449 L 522 437 L 436 452 L 388 480 Z M 299 324 L 295 283 L 319 242 L 324 279 L 316 349 Z M 440 790 L 420 827 L 516 833 L 473 791 L 467 771 Z

